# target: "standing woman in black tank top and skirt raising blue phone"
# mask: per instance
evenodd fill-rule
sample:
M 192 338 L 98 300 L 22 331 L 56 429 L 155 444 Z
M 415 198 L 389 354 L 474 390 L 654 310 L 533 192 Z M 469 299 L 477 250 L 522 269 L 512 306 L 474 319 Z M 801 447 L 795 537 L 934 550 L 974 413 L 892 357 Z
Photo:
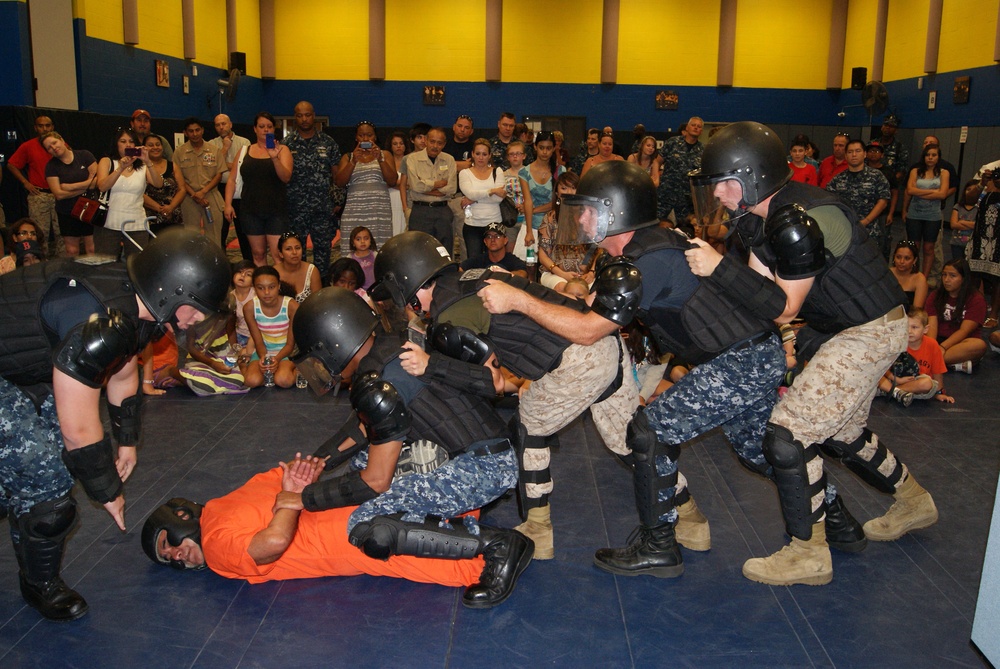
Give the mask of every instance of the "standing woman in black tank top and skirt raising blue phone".
M 253 264 L 267 264 L 267 252 L 281 259 L 278 238 L 288 228 L 288 195 L 285 185 L 292 178 L 292 152 L 274 138 L 274 117 L 260 112 L 253 118 L 257 141 L 240 152 L 229 166 L 234 175 L 226 184 L 226 220 L 236 218 L 233 197 L 241 184 L 240 227 L 250 241 Z

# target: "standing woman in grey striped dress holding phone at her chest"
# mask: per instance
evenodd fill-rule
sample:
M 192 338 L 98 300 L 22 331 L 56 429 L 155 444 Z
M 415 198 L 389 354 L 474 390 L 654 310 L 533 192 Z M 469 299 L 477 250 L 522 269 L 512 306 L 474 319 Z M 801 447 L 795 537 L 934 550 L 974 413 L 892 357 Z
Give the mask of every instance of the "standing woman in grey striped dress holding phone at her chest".
M 392 203 L 389 187 L 396 185 L 396 162 L 392 154 L 379 148 L 375 124 L 358 123 L 354 130 L 354 150 L 340 159 L 335 181 L 347 188 L 344 213 L 340 215 L 341 254 L 351 249 L 351 230 L 364 226 L 381 246 L 392 237 Z

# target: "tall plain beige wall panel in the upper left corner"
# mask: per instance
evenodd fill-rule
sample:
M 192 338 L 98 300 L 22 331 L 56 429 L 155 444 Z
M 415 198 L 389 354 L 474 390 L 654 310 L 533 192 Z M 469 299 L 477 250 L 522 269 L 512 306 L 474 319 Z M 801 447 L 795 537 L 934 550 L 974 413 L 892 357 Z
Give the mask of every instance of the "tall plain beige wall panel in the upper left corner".
M 35 106 L 79 109 L 73 3 L 28 0 Z

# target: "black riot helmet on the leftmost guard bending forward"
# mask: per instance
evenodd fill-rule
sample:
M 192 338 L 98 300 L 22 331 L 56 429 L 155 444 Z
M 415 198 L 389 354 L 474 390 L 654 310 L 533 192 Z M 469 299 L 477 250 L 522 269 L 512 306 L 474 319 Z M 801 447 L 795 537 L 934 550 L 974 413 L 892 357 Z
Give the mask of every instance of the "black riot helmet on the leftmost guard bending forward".
M 128 275 L 159 325 L 185 304 L 205 314 L 221 313 L 232 280 L 225 251 L 208 237 L 180 227 L 165 230 L 129 256 Z

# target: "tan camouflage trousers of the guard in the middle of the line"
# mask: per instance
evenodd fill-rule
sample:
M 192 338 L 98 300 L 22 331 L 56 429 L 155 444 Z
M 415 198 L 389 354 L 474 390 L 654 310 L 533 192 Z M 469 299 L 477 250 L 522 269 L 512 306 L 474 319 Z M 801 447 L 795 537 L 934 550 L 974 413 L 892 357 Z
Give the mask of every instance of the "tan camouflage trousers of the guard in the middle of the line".
M 594 427 L 604 444 L 618 454 L 628 453 L 625 427 L 639 405 L 639 388 L 632 374 L 632 360 L 621 349 L 619 363 L 618 337 L 604 337 L 590 346 L 573 344 L 563 351 L 562 363 L 532 382 L 521 397 L 518 413 L 529 435 L 548 436 L 569 425 L 590 407 Z M 615 393 L 599 404 L 594 401 L 607 390 L 622 367 L 622 384 Z M 551 454 L 546 448 L 526 448 L 525 471 L 545 471 Z M 552 481 L 527 483 L 525 492 L 537 499 L 552 492 Z

